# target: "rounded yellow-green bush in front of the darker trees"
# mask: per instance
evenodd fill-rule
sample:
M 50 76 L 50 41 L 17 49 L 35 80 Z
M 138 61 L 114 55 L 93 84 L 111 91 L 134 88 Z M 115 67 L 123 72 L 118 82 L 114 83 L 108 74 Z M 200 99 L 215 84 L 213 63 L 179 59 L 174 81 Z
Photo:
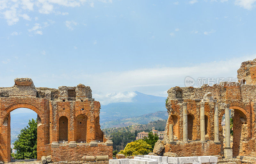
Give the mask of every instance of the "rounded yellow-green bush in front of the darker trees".
M 148 154 L 150 150 L 151 145 L 148 144 L 146 141 L 139 139 L 127 144 L 124 150 L 121 150 L 119 153 L 124 154 L 125 156 L 145 155 Z

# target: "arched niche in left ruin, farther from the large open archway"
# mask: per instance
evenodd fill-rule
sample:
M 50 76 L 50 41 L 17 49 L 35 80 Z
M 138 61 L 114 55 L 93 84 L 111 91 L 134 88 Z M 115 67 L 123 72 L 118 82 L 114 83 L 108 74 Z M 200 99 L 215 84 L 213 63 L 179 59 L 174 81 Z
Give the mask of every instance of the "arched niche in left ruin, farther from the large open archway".
M 87 117 L 79 114 L 76 117 L 76 142 L 86 142 L 87 137 Z

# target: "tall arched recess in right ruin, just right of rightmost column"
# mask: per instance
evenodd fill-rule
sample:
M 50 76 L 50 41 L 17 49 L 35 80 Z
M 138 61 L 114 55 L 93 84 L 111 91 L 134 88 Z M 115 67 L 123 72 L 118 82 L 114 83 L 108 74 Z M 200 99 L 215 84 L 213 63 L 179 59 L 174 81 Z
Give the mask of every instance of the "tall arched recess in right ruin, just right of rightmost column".
M 233 139 L 233 146 L 232 142 L 230 143 L 231 148 L 233 149 L 233 156 L 238 155 L 245 155 L 246 152 L 243 149 L 243 141 L 247 141 L 249 138 L 250 131 L 249 127 L 247 126 L 247 120 L 245 114 L 239 110 L 234 109 L 234 116 L 233 116 L 233 136 L 231 136 L 231 141 Z M 230 127 L 232 132 L 232 125 Z

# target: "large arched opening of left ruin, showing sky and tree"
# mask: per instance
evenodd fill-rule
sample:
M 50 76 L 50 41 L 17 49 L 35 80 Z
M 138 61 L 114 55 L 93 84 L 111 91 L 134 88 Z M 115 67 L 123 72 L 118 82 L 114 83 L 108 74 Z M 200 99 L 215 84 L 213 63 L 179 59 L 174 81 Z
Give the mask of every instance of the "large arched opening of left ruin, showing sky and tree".
M 10 128 L 10 130 L 8 130 L 9 134 L 7 134 L 8 151 L 9 151 L 9 149 L 10 149 L 10 152 L 12 151 L 10 156 L 14 157 L 14 155 L 15 155 L 14 153 L 17 153 L 17 150 L 14 149 L 14 145 L 16 144 L 15 141 L 18 140 L 18 135 L 21 134 L 20 131 L 22 129 L 24 129 L 24 128 L 28 129 L 28 127 L 29 127 L 28 122 L 29 122 L 29 120 L 32 121 L 32 119 L 35 121 L 36 121 L 36 119 L 38 120 L 37 126 L 41 124 L 41 119 L 37 115 L 37 113 L 28 108 L 17 108 L 15 110 L 12 110 L 6 117 L 6 119 L 4 121 L 4 126 L 7 126 L 8 128 Z M 35 131 L 37 131 L 37 126 L 36 126 L 36 129 L 34 129 Z M 32 139 L 33 141 L 31 141 L 30 144 L 36 144 L 37 133 L 32 134 L 32 136 L 34 136 L 34 140 Z M 30 136 L 30 138 L 33 138 L 33 137 Z M 24 139 L 22 139 L 22 140 L 24 140 Z M 24 141 L 24 142 L 26 142 L 26 141 Z M 21 149 L 18 143 L 16 146 L 17 146 L 17 147 L 15 147 L 16 149 L 17 148 Z M 22 149 L 21 149 L 21 150 L 19 150 L 18 153 L 24 154 L 24 156 L 23 156 L 24 158 L 34 159 L 37 156 L 37 154 L 32 153 L 33 151 L 35 151 L 34 149 L 35 149 L 35 147 L 28 146 L 26 148 L 26 151 L 22 151 Z M 23 159 L 21 157 L 21 155 L 19 155 L 19 157 L 18 157 L 18 154 L 15 155 L 15 158 Z

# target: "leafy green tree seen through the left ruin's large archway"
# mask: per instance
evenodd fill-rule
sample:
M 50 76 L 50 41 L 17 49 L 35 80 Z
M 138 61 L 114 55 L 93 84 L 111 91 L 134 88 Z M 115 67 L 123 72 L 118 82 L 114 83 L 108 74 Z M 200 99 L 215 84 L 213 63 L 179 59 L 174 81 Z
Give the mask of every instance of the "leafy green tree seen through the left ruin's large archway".
M 15 159 L 35 159 L 37 144 L 37 121 L 32 119 L 28 121 L 27 128 L 21 129 L 18 139 L 14 142 L 14 148 L 17 153 Z

